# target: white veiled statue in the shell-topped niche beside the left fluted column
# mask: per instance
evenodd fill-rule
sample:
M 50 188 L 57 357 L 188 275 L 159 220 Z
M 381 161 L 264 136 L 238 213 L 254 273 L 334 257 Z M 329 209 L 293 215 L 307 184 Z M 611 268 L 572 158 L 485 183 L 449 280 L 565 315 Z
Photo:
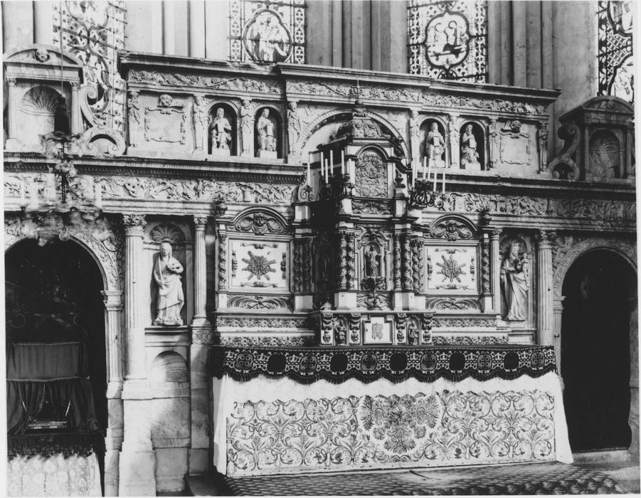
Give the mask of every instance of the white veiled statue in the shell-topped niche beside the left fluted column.
M 158 289 L 154 325 L 175 327 L 183 324 L 180 312 L 185 298 L 180 277 L 183 266 L 171 253 L 171 245 L 166 242 L 161 243 L 160 252 L 154 264 L 154 282 Z

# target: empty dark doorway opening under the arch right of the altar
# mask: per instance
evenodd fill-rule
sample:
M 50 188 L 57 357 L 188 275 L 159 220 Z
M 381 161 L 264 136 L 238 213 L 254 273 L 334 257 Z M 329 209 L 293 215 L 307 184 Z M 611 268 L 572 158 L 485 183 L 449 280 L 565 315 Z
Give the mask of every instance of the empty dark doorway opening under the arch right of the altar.
M 630 298 L 635 272 L 619 255 L 593 250 L 563 281 L 561 376 L 573 451 L 627 448 Z

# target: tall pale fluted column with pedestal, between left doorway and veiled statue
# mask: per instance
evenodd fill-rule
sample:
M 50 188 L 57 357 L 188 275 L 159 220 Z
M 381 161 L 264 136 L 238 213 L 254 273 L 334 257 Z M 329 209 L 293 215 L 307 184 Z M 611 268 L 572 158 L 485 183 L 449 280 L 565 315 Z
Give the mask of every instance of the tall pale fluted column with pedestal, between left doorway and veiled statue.
M 144 327 L 141 320 L 141 291 L 145 281 L 142 267 L 142 214 L 123 216 L 125 224 L 125 338 L 127 361 L 122 388 L 123 440 L 120 452 L 120 496 L 156 495 L 156 455 L 152 448 L 149 402 L 151 392 L 146 378 Z

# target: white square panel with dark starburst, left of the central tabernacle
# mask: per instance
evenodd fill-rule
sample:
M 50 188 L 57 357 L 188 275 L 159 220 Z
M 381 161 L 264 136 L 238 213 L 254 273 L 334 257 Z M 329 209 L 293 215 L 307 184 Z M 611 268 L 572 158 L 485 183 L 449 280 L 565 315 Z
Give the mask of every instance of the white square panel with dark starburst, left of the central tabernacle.
M 260 240 L 230 241 L 231 287 L 243 290 L 287 290 L 289 244 Z

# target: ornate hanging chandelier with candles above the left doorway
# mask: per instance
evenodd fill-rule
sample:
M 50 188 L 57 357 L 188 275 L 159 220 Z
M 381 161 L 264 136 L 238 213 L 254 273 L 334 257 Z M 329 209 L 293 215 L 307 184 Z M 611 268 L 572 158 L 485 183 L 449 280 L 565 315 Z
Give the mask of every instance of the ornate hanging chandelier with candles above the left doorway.
M 83 137 L 78 134 L 51 132 L 41 136 L 44 156 L 52 161 L 44 173 L 44 186 L 33 179 L 26 200 L 21 192 L 23 211 L 23 235 L 46 245 L 55 238 L 68 240 L 72 233 L 92 233 L 97 219 L 102 214 L 100 184 L 95 184 L 92 198 L 76 180 L 78 171 L 72 160 L 72 153 L 80 149 Z M 90 191 L 90 190 L 89 190 Z

